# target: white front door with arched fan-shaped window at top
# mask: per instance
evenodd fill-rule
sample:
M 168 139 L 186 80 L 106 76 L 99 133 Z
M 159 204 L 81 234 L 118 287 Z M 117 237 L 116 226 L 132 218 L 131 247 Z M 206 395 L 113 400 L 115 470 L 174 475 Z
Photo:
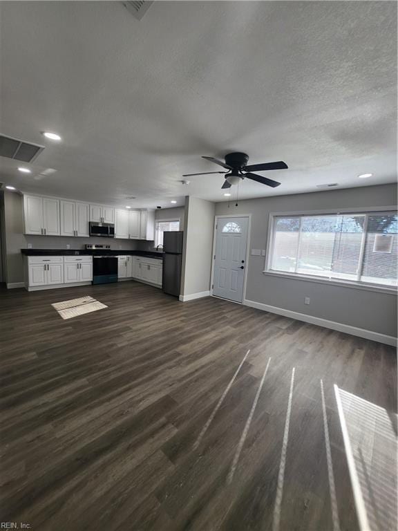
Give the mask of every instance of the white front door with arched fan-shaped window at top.
M 218 218 L 213 294 L 231 301 L 243 301 L 248 217 Z

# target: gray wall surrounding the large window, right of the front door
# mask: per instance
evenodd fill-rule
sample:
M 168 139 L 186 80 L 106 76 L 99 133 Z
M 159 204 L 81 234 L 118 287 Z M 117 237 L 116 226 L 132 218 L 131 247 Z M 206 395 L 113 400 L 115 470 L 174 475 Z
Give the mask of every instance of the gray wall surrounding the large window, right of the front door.
M 396 205 L 397 186 L 381 185 L 363 188 L 314 192 L 292 196 L 250 199 L 217 203 L 216 215 L 252 214 L 249 250 L 267 248 L 268 219 L 270 212 L 311 212 L 321 209 L 356 207 L 385 207 Z M 330 321 L 397 336 L 397 296 L 327 286 L 322 283 L 277 278 L 263 274 L 264 257 L 249 256 L 245 299 L 285 310 L 329 319 Z M 309 306 L 304 298 L 310 297 Z

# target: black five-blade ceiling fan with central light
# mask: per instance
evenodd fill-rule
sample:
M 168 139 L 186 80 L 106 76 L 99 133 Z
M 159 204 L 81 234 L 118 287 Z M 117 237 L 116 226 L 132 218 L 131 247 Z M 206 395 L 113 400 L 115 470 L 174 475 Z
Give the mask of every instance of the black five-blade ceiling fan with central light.
M 214 157 L 202 158 L 205 158 L 206 160 L 210 160 L 210 162 L 214 162 L 215 164 L 222 166 L 223 168 L 227 169 L 227 171 L 207 171 L 205 174 L 187 174 L 183 175 L 182 177 L 191 177 L 194 175 L 224 174 L 225 181 L 221 187 L 222 189 L 230 188 L 232 185 L 237 185 L 240 179 L 243 180 L 245 178 L 255 180 L 257 183 L 271 186 L 272 188 L 276 188 L 281 183 L 278 183 L 276 180 L 268 179 L 267 177 L 263 177 L 261 175 L 252 174 L 251 171 L 287 169 L 287 164 L 285 164 L 285 162 L 283 162 L 282 160 L 279 160 L 278 162 L 264 162 L 263 164 L 253 164 L 247 166 L 247 162 L 249 162 L 249 156 L 246 155 L 246 153 L 228 153 L 227 155 L 225 155 L 225 162 L 222 162 L 222 160 L 218 160 Z

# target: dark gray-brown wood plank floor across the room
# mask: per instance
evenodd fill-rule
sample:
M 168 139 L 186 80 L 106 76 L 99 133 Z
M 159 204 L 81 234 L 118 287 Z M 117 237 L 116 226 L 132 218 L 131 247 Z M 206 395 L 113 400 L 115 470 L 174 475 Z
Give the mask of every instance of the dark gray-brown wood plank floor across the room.
M 333 384 L 396 404 L 391 347 L 135 282 L 2 291 L 0 359 L 0 521 L 32 530 L 355 531 Z

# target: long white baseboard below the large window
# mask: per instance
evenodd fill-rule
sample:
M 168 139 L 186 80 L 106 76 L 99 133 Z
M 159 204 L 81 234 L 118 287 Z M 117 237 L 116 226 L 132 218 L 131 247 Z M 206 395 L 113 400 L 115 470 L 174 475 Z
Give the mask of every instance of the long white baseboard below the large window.
M 364 328 L 357 328 L 357 326 L 350 326 L 349 324 L 337 323 L 329 321 L 328 319 L 322 319 L 321 317 L 314 317 L 313 315 L 306 315 L 305 313 L 293 312 L 292 310 L 285 310 L 285 308 L 278 308 L 277 306 L 269 306 L 262 302 L 249 301 L 245 299 L 243 301 L 245 306 L 251 308 L 257 308 L 265 312 L 276 313 L 283 315 L 284 317 L 291 317 L 298 321 L 305 323 L 316 324 L 317 326 L 323 326 L 323 328 L 330 328 L 331 330 L 337 330 L 337 332 L 343 332 L 345 334 L 356 335 L 357 337 L 363 337 L 364 339 L 370 339 L 370 341 L 377 341 L 386 345 L 397 346 L 397 338 L 392 335 L 379 334 L 378 332 L 372 332 L 372 330 L 365 330 Z

